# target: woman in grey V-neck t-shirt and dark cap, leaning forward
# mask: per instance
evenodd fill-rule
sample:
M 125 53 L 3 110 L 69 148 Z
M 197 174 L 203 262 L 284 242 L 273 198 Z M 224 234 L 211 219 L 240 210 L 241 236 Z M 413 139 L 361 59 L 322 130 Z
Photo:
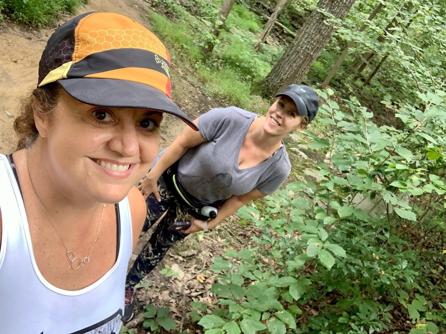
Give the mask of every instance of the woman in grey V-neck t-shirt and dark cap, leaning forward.
M 290 85 L 276 97 L 264 117 L 236 107 L 201 115 L 194 121 L 199 132 L 185 128 L 140 181 L 150 211 L 143 231 L 167 213 L 127 275 L 128 318 L 134 286 L 172 244 L 213 228 L 249 201 L 273 193 L 288 177 L 291 165 L 282 139 L 304 129 L 319 102 L 308 86 Z

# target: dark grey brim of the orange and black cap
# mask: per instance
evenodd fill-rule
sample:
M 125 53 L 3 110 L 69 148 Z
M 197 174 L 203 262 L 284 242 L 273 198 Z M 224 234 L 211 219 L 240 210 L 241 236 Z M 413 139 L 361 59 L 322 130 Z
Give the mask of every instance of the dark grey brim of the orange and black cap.
M 198 131 L 198 127 L 164 93 L 139 82 L 73 78 L 57 81 L 72 98 L 93 106 L 109 108 L 140 108 L 162 111 L 180 118 Z

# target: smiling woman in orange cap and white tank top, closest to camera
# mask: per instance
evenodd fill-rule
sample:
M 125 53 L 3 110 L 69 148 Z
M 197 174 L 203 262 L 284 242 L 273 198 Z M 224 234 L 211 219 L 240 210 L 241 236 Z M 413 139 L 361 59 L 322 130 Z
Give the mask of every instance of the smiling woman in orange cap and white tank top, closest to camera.
M 146 218 L 133 185 L 164 112 L 196 130 L 170 99 L 167 50 L 134 20 L 86 13 L 50 37 L 14 122 L 17 151 L 0 155 L 2 333 L 120 331 Z

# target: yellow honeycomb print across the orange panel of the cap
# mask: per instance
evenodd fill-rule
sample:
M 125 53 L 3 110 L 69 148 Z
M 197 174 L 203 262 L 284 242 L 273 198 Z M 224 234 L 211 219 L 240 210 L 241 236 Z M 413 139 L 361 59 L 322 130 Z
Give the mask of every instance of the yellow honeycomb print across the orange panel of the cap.
M 76 42 L 76 61 L 92 53 L 112 49 L 145 49 L 169 60 L 165 46 L 152 33 L 138 29 L 107 29 L 81 33 Z

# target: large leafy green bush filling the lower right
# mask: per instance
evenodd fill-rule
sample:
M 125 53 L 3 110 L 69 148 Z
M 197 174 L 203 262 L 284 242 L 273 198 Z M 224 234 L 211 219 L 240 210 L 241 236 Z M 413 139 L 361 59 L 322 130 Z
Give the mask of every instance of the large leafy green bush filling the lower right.
M 404 130 L 332 94 L 318 91 L 328 139 L 302 131 L 326 157 L 320 181 L 289 183 L 262 212 L 239 210 L 262 234 L 258 247 L 214 259 L 219 307 L 193 316 L 209 333 L 366 334 L 388 331 L 396 311 L 412 334 L 446 330 L 446 92 L 397 110 Z

